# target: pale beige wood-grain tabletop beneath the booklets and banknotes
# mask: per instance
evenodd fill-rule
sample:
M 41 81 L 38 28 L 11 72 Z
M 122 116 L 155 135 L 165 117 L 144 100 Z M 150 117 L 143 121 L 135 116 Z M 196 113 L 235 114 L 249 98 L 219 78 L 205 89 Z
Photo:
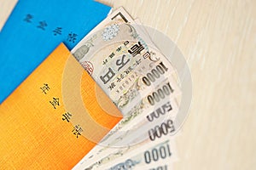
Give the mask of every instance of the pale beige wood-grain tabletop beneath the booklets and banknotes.
M 15 1 L 0 0 L 0 27 Z M 189 63 L 193 100 L 174 169 L 256 169 L 256 1 L 99 1 L 165 33 Z

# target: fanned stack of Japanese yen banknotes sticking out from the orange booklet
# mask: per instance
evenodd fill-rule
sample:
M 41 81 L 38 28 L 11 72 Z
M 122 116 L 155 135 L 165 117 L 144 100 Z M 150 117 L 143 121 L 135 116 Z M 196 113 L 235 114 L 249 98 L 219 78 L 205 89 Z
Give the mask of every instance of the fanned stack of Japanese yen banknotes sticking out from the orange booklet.
M 118 8 L 73 48 L 123 115 L 73 169 L 172 169 L 181 90 L 156 45 L 139 20 Z

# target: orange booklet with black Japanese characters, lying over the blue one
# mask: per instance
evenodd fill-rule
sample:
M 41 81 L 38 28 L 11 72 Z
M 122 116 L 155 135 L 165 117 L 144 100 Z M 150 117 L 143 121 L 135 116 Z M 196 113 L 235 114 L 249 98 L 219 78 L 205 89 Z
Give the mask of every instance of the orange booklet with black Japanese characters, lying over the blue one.
M 0 115 L 1 169 L 71 169 L 122 118 L 62 43 Z

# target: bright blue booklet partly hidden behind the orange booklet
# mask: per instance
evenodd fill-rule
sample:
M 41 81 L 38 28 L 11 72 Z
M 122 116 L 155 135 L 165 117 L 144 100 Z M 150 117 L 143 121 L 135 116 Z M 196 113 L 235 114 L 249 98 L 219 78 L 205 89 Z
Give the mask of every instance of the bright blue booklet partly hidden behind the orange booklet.
M 0 104 L 61 42 L 72 49 L 109 11 L 92 0 L 20 0 L 0 32 Z

